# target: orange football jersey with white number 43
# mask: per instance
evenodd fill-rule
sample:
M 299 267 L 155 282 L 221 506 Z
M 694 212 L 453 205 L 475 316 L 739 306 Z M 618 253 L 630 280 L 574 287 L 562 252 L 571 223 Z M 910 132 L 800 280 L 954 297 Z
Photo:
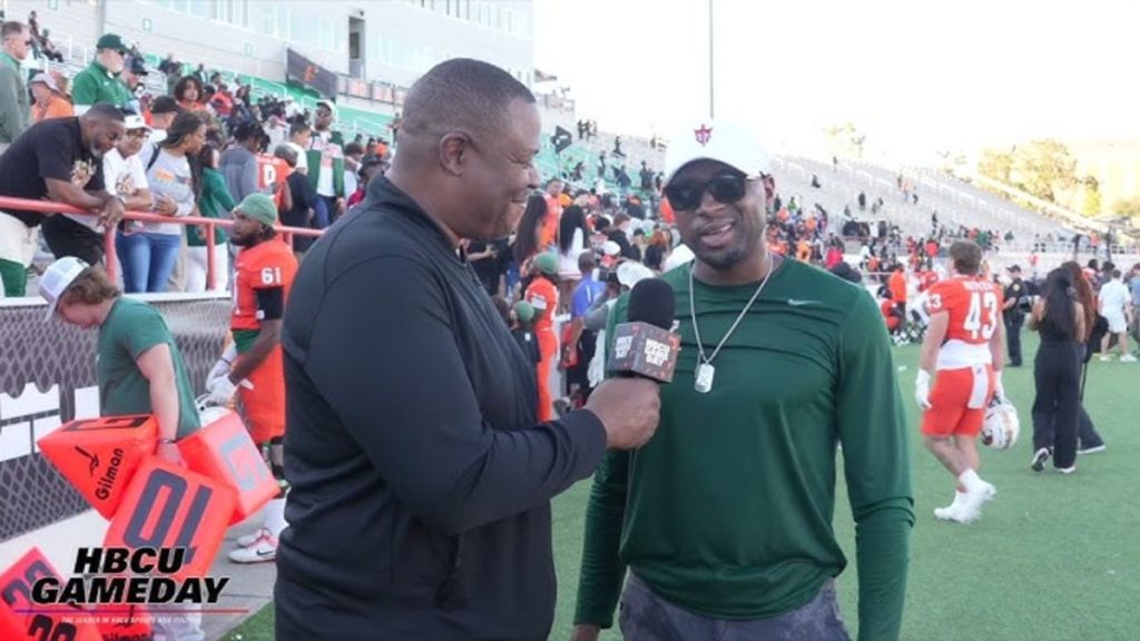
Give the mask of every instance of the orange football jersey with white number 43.
M 1001 322 L 1002 293 L 983 278 L 954 277 L 930 286 L 927 311 L 946 311 L 950 325 L 946 341 L 985 344 Z

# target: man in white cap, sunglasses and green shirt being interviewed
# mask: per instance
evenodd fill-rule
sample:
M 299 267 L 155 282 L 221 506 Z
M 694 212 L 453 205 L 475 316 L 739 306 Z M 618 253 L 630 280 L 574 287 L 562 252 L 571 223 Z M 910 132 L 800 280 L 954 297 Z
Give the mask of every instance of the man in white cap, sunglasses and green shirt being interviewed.
M 833 581 L 847 565 L 832 530 L 837 445 L 860 639 L 897 639 L 914 516 L 879 310 L 858 286 L 766 250 L 774 184 L 746 129 L 694 123 L 670 138 L 666 165 L 695 254 L 663 276 L 682 349 L 654 438 L 608 453 L 594 477 L 575 639 L 612 625 L 619 595 L 630 641 L 848 639 Z

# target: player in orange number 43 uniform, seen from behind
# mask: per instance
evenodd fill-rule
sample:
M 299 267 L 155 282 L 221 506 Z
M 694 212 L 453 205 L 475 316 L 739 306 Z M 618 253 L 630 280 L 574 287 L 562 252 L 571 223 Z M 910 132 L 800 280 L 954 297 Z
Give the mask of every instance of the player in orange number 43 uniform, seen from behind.
M 982 516 L 994 486 L 978 477 L 975 439 L 1001 386 L 1004 332 L 999 286 L 979 275 L 982 248 L 950 248 L 953 276 L 929 290 L 930 325 L 922 341 L 914 398 L 923 409 L 922 440 L 958 484 L 954 502 L 936 508 L 942 520 L 968 524 Z M 937 372 L 934 389 L 931 374 Z

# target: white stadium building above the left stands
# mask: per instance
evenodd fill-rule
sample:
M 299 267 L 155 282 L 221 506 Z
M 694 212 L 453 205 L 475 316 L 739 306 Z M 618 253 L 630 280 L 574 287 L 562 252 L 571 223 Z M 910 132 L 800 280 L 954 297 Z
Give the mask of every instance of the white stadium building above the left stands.
M 117 33 L 144 52 L 269 80 L 285 49 L 341 75 L 409 86 L 434 64 L 475 57 L 530 86 L 530 0 L 0 0 L 8 19 L 39 14 L 57 46 Z

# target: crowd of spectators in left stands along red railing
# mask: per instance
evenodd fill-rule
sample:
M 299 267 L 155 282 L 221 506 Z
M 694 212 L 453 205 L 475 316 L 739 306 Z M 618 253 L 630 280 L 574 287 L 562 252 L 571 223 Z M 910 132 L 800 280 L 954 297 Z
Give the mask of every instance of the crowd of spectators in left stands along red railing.
M 31 55 L 33 41 L 39 42 L 33 27 L 3 23 L 0 39 L 2 167 L 50 164 L 59 176 L 41 175 L 40 188 L 51 200 L 80 209 L 101 212 L 109 198 L 131 211 L 172 218 L 114 221 L 127 292 L 204 291 L 205 257 L 211 253 L 206 243 L 219 250 L 212 252 L 214 287 L 226 287 L 225 234 L 218 230 L 206 238 L 205 226 L 173 219 L 228 219 L 234 203 L 264 193 L 274 197 L 285 225 L 323 229 L 364 200 L 368 180 L 388 163 L 386 139 L 358 135 L 345 140 L 336 128 L 333 100 L 318 100 L 312 111 L 276 97 L 254 100 L 249 86 L 228 83 L 203 65 L 178 75 L 185 67 L 173 56 L 160 65 L 169 94 L 153 95 L 146 88 L 149 72 L 141 54 L 116 34 L 98 39 L 90 65 L 70 82 L 59 73 L 25 78 L 21 62 Z M 107 130 L 107 139 L 98 144 L 90 139 L 96 123 Z M 76 131 L 85 148 L 51 144 L 52 137 Z M 63 197 L 55 180 L 83 193 Z M 34 194 L 25 186 L 5 185 L 0 195 Z M 104 258 L 106 217 L 0 212 L 0 219 L 14 224 L 8 240 L 19 238 L 0 243 L 0 267 L 6 275 L 23 274 L 6 277 L 6 295 L 23 291 L 41 236 L 57 258 L 78 255 L 92 265 Z M 306 240 L 298 237 L 295 249 L 303 254 Z

